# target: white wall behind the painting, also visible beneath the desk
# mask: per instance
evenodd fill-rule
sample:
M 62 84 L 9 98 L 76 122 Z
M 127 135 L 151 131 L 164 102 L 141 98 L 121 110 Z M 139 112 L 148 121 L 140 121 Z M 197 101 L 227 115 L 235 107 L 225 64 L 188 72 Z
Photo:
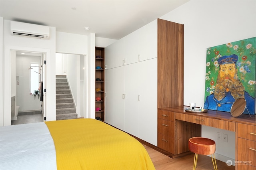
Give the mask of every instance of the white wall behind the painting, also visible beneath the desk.
M 184 105 L 194 102 L 204 106 L 207 47 L 256 36 L 255 9 L 253 0 L 191 0 L 160 17 L 184 24 Z M 225 130 L 202 126 L 202 136 L 207 134 L 216 141 L 216 132 L 226 134 Z M 235 158 L 234 137 L 234 133 L 228 134 L 228 144 L 218 141 L 218 159 Z

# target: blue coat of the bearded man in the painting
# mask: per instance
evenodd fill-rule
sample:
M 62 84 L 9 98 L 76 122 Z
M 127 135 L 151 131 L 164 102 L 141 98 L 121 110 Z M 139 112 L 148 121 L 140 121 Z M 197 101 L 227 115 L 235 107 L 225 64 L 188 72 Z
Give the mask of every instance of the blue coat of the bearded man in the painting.
M 246 100 L 246 108 L 244 110 L 244 114 L 250 113 L 250 115 L 255 115 L 255 108 L 253 107 L 255 103 L 255 98 L 251 97 L 245 91 L 244 99 Z M 218 101 L 218 99 L 214 97 L 214 93 L 212 93 L 210 96 L 206 97 L 204 108 L 209 110 L 230 112 L 230 109 L 234 102 L 235 99 L 233 98 L 230 92 L 228 92 L 226 96 L 220 101 Z

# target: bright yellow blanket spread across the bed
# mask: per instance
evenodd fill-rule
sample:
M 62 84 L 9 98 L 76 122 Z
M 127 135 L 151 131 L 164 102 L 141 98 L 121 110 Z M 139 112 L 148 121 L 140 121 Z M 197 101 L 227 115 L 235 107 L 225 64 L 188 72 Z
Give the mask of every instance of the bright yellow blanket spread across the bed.
M 135 138 L 95 119 L 45 122 L 56 148 L 58 170 L 154 170 Z

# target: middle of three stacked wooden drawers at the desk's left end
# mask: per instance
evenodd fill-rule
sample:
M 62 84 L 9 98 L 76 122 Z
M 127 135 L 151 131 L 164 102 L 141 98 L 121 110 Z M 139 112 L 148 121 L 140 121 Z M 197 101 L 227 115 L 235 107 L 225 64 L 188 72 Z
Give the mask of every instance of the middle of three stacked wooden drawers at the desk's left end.
M 174 122 L 158 119 L 157 129 L 158 133 L 174 136 Z

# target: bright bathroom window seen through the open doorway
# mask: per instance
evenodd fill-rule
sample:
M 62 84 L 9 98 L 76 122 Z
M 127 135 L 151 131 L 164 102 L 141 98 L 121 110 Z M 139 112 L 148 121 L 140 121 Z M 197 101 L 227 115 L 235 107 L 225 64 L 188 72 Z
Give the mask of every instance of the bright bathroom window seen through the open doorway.
M 38 90 L 40 83 L 40 66 L 39 64 L 30 65 L 30 93 L 34 93 L 35 90 Z

